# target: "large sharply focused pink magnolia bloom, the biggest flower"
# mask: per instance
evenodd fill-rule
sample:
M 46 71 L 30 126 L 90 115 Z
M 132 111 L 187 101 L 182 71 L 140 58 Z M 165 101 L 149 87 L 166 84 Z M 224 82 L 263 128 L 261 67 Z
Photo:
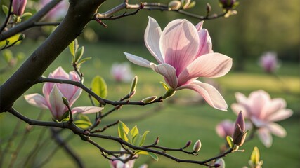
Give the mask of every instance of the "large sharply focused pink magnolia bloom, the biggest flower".
M 194 90 L 215 109 L 226 111 L 228 106 L 218 90 L 196 80 L 224 76 L 232 66 L 230 57 L 212 51 L 211 38 L 202 24 L 195 27 L 188 20 L 174 20 L 162 31 L 156 20 L 149 17 L 145 45 L 159 64 L 124 54 L 133 64 L 151 68 L 164 76 L 173 90 Z

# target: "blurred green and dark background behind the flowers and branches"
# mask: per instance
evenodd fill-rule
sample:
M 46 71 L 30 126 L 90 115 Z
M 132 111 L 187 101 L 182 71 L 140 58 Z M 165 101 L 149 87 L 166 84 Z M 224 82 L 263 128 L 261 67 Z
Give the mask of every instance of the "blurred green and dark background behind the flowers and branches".
M 30 1 L 29 1 L 30 2 Z M 121 1 L 107 1 L 100 8 L 99 13 L 112 8 Z M 151 1 L 150 1 L 151 2 Z M 156 1 L 152 1 L 156 2 Z M 169 1 L 160 1 L 168 3 Z M 219 1 L 196 1 L 195 8 L 191 8 L 191 13 L 206 13 L 206 3 L 210 3 L 212 13 L 221 13 Z M 261 151 L 263 167 L 300 167 L 300 69 L 299 69 L 299 45 L 300 45 L 300 2 L 298 0 L 279 1 L 279 0 L 241 0 L 237 6 L 237 15 L 229 18 L 219 18 L 204 22 L 204 28 L 209 30 L 212 39 L 214 52 L 220 52 L 233 58 L 233 69 L 228 75 L 215 80 L 208 80 L 220 90 L 224 99 L 230 104 L 236 102 L 235 92 L 242 92 L 246 96 L 254 90 L 265 90 L 270 97 L 282 97 L 287 101 L 287 108 L 292 109 L 294 114 L 287 120 L 280 121 L 280 125 L 287 130 L 287 137 L 278 138 L 273 136 L 273 146 L 266 148 L 256 138 L 242 146 L 244 153 L 233 153 L 224 160 L 227 167 L 242 167 L 247 165 L 249 156 L 254 146 L 258 146 Z M 8 1 L 0 1 L 0 4 L 7 4 Z M 132 1 L 139 3 L 139 1 Z M 32 8 L 37 8 L 36 3 L 29 3 Z M 30 9 L 27 9 L 30 10 Z M 108 28 L 100 26 L 97 22 L 91 22 L 82 36 L 79 36 L 79 45 L 84 45 L 84 57 L 93 57 L 86 62 L 81 71 L 84 73 L 84 83 L 90 87 L 93 76 L 102 76 L 108 85 L 107 99 L 119 99 L 129 92 L 130 83 L 116 82 L 112 77 L 110 69 L 115 62 L 128 62 L 123 52 L 140 55 L 148 60 L 155 62 L 151 57 L 143 42 L 143 34 L 148 23 L 148 16 L 155 18 L 162 29 L 168 22 L 176 18 L 186 18 L 197 24 L 199 20 L 189 18 L 174 12 L 148 11 L 141 10 L 137 15 L 122 18 L 119 20 L 103 20 Z M 4 13 L 0 12 L 0 23 L 4 22 Z M 0 83 L 4 83 L 9 76 L 18 69 L 18 66 L 29 57 L 31 53 L 41 44 L 51 32 L 51 28 L 33 28 L 25 32 L 25 40 L 22 45 L 15 45 L 11 50 L 13 57 L 19 57 L 18 62 L 13 62 L 13 66 L 1 73 Z M 67 31 L 67 30 L 66 30 Z M 276 53 L 279 64 L 273 73 L 266 73 L 259 64 L 261 55 L 266 52 Z M 5 55 L 0 51 L 0 56 Z M 44 76 L 63 66 L 66 71 L 72 71 L 70 64 L 72 57 L 68 49 L 62 53 L 58 59 L 47 69 Z M 138 76 L 138 92 L 133 97 L 134 100 L 143 99 L 153 94 L 160 96 L 164 93 L 164 88 L 159 81 L 163 81 L 162 76 L 153 73 L 150 69 L 131 65 L 133 75 Z M 3 57 L 0 58 L 0 67 L 6 67 L 7 63 Z M 42 85 L 36 85 L 26 92 L 41 93 Z M 193 100 L 190 100 L 192 97 Z M 81 95 L 77 106 L 86 106 L 89 99 L 84 93 Z M 30 106 L 25 99 L 20 97 L 15 107 L 21 113 L 31 118 L 37 118 L 39 113 L 43 113 L 43 120 L 50 120 L 51 115 L 48 111 L 42 111 Z M 110 108 L 107 108 L 110 109 Z M 89 116 L 93 120 L 93 116 Z M 112 113 L 107 120 L 101 123 L 101 127 L 122 120 L 124 123 L 133 127 L 138 125 L 141 132 L 149 130 L 147 143 L 152 144 L 156 137 L 161 139 L 160 145 L 171 148 L 181 148 L 186 141 L 193 142 L 200 139 L 202 141 L 202 151 L 197 156 L 197 160 L 205 160 L 219 152 L 219 146 L 224 143 L 215 132 L 216 124 L 221 120 L 229 118 L 235 120 L 235 114 L 231 109 L 228 112 L 217 111 L 201 101 L 192 91 L 183 90 L 177 92 L 174 97 L 162 104 L 152 104 L 145 107 L 125 106 L 120 111 Z M 136 118 L 136 119 L 135 119 Z M 14 136 L 14 141 L 10 141 L 12 130 L 15 125 L 19 125 L 19 131 Z M 37 142 L 45 143 L 44 150 L 39 151 L 36 160 L 32 163 L 39 165 L 41 160 L 46 160 L 44 167 L 74 167 L 70 157 L 61 149 L 56 149 L 56 143 L 51 140 L 48 130 L 41 127 L 34 127 L 28 133 L 26 139 L 23 137 L 22 130 L 27 127 L 24 123 L 19 123 L 16 118 L 8 113 L 0 115 L 0 136 L 1 151 L 9 145 L 6 154 L 4 167 L 9 165 L 10 157 L 18 157 L 15 167 L 24 165 L 28 153 L 32 151 Z M 46 132 L 44 137 L 39 137 L 40 132 Z M 70 132 L 64 131 L 63 137 L 69 137 Z M 105 134 L 117 136 L 117 127 L 112 127 Z M 13 153 L 18 144 L 25 145 L 18 155 Z M 97 142 L 109 149 L 119 149 L 118 144 L 109 141 L 97 140 Z M 79 155 L 86 167 L 109 167 L 100 152 L 89 144 L 85 144 L 79 137 L 70 139 L 70 146 Z M 56 151 L 52 155 L 52 151 Z M 51 155 L 51 157 L 49 157 Z M 190 156 L 174 154 L 178 157 L 188 158 Z M 159 157 L 159 162 L 151 160 L 147 156 L 141 156 L 136 160 L 136 167 L 147 163 L 149 167 L 198 167 L 195 165 L 173 162 L 167 158 Z

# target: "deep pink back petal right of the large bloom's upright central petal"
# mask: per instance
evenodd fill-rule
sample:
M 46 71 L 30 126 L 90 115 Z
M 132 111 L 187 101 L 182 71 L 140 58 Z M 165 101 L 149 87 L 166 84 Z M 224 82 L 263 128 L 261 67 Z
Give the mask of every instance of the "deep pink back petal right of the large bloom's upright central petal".
M 207 31 L 207 29 L 201 29 L 200 31 L 198 31 L 198 34 L 200 38 L 200 47 L 197 52 L 197 57 L 213 52 L 209 31 Z

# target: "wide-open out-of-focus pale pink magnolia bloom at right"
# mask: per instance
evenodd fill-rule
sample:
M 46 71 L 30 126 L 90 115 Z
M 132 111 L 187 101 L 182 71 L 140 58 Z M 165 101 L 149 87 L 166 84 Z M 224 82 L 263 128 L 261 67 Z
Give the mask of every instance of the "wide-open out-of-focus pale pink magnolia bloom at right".
M 244 118 L 249 118 L 258 127 L 259 139 L 266 147 L 272 145 L 271 133 L 278 137 L 286 136 L 285 129 L 274 123 L 292 116 L 293 112 L 291 109 L 286 109 L 284 99 L 270 99 L 270 95 L 263 90 L 254 91 L 249 94 L 249 97 L 237 92 L 235 98 L 237 103 L 232 104 L 231 109 L 235 113 L 242 111 Z

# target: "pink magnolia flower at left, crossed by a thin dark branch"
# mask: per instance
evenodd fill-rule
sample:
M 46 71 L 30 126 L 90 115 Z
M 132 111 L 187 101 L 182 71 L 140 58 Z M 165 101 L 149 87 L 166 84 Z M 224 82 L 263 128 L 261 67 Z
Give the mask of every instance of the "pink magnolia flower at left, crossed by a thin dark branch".
M 79 76 L 74 71 L 67 74 L 61 67 L 58 67 L 53 73 L 50 73 L 48 78 L 58 78 L 66 80 L 79 81 Z M 71 107 L 81 94 L 81 89 L 74 85 L 60 83 L 45 83 L 43 86 L 43 94 L 27 94 L 25 99 L 29 104 L 37 106 L 41 109 L 49 109 L 53 118 L 57 120 L 61 118 L 67 111 L 67 106 L 63 104 L 62 97 L 69 101 Z M 96 113 L 102 110 L 102 107 L 96 106 L 79 106 L 72 108 L 72 113 Z

